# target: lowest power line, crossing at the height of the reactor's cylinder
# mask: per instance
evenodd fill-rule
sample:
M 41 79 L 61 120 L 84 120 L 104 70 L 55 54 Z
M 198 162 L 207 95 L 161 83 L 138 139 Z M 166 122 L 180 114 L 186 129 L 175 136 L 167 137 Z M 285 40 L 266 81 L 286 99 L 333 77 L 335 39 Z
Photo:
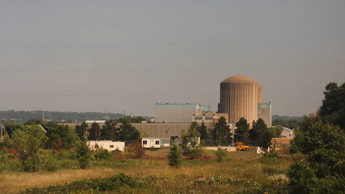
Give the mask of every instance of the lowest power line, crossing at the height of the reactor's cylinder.
M 343 90 L 330 89 L 330 90 Z M 264 92 L 298 92 L 298 91 L 326 91 L 325 89 L 303 90 L 270 90 Z M 196 95 L 196 94 L 230 94 L 231 92 L 205 92 L 205 93 L 148 93 L 148 94 L 0 94 L 0 96 L 150 96 L 150 95 Z M 235 93 L 235 92 L 233 92 Z

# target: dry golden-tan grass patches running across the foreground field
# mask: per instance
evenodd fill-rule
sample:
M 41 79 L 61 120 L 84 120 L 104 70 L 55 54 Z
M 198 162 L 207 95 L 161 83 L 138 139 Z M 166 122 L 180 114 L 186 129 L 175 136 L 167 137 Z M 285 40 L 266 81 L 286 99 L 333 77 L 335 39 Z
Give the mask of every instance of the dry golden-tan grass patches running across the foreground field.
M 169 152 L 168 148 L 159 149 L 158 151 L 147 151 L 146 153 L 152 157 L 165 157 Z M 214 151 L 205 151 L 203 154 L 215 158 Z M 268 177 L 262 173 L 262 166 L 257 160 L 252 161 L 251 158 L 256 157 L 256 150 L 250 152 L 230 152 L 227 158 L 237 158 L 232 162 L 204 162 L 194 163 L 194 161 L 186 161 L 181 168 L 170 167 L 167 161 L 157 159 L 138 160 L 136 165 L 131 168 L 90 168 L 90 169 L 63 169 L 56 172 L 36 172 L 36 173 L 13 173 L 4 172 L 0 174 L 0 193 L 15 193 L 20 190 L 31 188 L 33 186 L 44 187 L 49 185 L 65 184 L 83 178 L 111 177 L 120 172 L 132 177 L 145 177 L 154 175 L 159 177 L 159 181 L 166 191 L 173 193 L 179 192 L 179 188 L 186 187 L 189 180 L 195 177 L 207 177 L 220 175 L 225 178 L 245 178 L 250 180 L 277 180 L 284 178 L 282 175 L 273 175 Z M 286 167 L 292 162 L 280 161 L 275 164 L 276 167 Z M 285 177 L 286 178 L 286 177 Z M 166 182 L 164 182 L 166 180 Z M 175 186 L 175 182 L 176 185 Z M 219 185 L 218 185 L 219 186 Z M 222 193 L 223 191 L 241 191 L 245 186 L 231 186 L 231 188 L 220 186 L 217 192 L 210 188 L 209 192 Z M 219 191 L 218 191 L 219 190 Z M 208 191 L 205 191 L 208 192 Z

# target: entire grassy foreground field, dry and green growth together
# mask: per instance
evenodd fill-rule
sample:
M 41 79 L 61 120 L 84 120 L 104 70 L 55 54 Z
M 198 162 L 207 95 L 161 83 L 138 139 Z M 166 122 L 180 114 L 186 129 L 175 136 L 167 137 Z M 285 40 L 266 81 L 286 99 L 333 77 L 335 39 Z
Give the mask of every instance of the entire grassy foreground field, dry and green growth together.
M 83 178 L 106 178 L 122 172 L 134 178 L 141 178 L 140 182 L 144 180 L 147 186 L 124 187 L 123 190 L 113 193 L 233 193 L 260 183 L 285 179 L 284 173 L 292 164 L 290 159 L 284 158 L 273 161 L 264 158 L 253 160 L 258 155 L 256 149 L 252 148 L 249 152 L 226 152 L 224 162 L 215 160 L 215 151 L 205 151 L 203 155 L 207 158 L 206 161 L 185 159 L 180 168 L 175 168 L 167 164 L 168 152 L 169 148 L 163 147 L 157 151 L 147 151 L 146 158 L 149 159 L 115 160 L 114 165 L 103 168 L 61 169 L 36 173 L 5 171 L 0 174 L 0 193 L 17 193 L 32 187 L 61 185 Z M 104 192 L 88 190 L 86 193 Z

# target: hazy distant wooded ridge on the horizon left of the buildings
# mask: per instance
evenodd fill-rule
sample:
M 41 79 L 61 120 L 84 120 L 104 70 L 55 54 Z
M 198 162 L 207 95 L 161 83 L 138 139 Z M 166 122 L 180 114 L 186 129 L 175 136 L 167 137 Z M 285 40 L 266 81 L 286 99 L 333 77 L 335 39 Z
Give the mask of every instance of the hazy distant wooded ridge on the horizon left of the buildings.
M 16 110 L 0 110 L 0 120 L 14 121 L 19 124 L 24 124 L 30 118 L 42 117 L 42 110 L 32 111 L 16 111 Z M 61 112 L 61 111 L 44 111 L 45 120 L 53 122 L 84 122 L 86 120 L 102 120 L 104 113 L 98 112 Z M 123 114 L 109 113 L 111 119 L 122 118 Z M 136 117 L 136 116 L 134 116 Z M 146 120 L 151 120 L 154 117 L 141 116 Z

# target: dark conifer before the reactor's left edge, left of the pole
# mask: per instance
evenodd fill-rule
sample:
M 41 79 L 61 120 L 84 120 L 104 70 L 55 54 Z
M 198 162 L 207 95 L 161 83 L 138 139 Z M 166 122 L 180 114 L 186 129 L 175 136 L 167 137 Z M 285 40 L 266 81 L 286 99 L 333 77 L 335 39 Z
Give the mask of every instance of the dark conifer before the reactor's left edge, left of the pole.
M 213 129 L 213 139 L 229 141 L 232 139 L 231 135 L 232 133 L 228 123 L 226 122 L 226 118 L 220 117 L 215 128 Z

